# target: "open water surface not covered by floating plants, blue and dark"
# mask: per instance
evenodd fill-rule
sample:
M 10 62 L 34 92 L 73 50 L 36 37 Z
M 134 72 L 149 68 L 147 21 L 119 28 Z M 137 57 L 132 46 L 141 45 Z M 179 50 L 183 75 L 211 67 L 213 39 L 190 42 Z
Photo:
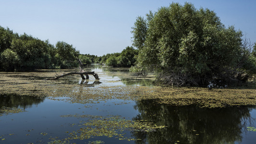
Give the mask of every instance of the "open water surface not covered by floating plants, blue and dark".
M 97 90 L 102 86 L 115 85 L 152 86 L 151 78 L 143 79 L 128 75 L 127 69 L 108 69 L 97 65 L 89 69 L 100 75 L 102 84 L 93 84 L 94 79 L 90 76 L 89 86 L 85 86 L 85 90 L 92 88 Z M 82 80 L 76 77 L 75 79 L 64 78 L 59 81 L 79 85 Z M 53 100 L 51 96 L 37 98 L 29 95 L 0 95 L 0 108 L 24 110 L 24 112 L 19 113 L 0 113 L 0 144 L 256 143 L 256 132 L 247 130 L 247 127 L 256 127 L 256 106 L 199 108 L 190 105 L 177 107 L 159 104 L 154 99 L 125 100 L 116 98 L 94 100 L 94 103 L 83 104 L 62 100 L 65 98 L 60 96 L 60 100 Z M 113 127 L 115 122 L 123 121 L 126 123 L 128 120 L 143 120 L 167 127 L 149 128 L 149 132 L 146 132 L 145 129 L 138 131 L 134 128 L 124 128 L 122 132 L 115 130 L 116 133 L 122 134 L 121 136 L 92 136 L 89 139 L 68 140 L 69 137 L 72 137 L 71 132 L 77 132 L 75 135 L 83 133 L 82 129 L 86 127 L 83 124 L 92 120 L 99 120 L 97 121 L 99 123 L 109 119 Z M 108 124 L 102 124 L 103 129 L 107 129 Z M 98 130 L 103 130 L 101 126 L 96 127 L 99 127 Z M 86 129 L 86 131 L 89 130 Z

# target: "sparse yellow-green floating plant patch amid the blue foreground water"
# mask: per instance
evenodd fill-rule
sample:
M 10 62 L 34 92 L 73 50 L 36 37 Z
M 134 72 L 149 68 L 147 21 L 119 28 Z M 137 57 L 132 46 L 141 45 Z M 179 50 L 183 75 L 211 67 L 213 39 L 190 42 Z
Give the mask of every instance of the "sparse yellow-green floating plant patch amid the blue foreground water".
M 68 140 L 84 140 L 95 136 L 106 136 L 115 137 L 119 140 L 136 141 L 138 139 L 124 137 L 125 131 L 156 132 L 157 129 L 166 127 L 158 126 L 146 120 L 126 120 L 120 116 L 65 115 L 62 117 L 87 118 L 87 120 L 83 120 L 78 124 L 81 126 L 79 130 L 67 132 L 69 133 Z

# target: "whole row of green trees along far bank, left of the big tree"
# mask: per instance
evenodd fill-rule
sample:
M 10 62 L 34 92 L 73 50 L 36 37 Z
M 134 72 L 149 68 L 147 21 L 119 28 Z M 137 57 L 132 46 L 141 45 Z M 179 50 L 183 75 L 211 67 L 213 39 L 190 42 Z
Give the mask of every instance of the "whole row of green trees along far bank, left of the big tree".
M 80 54 L 76 48 L 64 41 L 52 45 L 48 40 L 13 33 L 9 28 L 0 26 L 0 71 L 33 71 L 35 69 L 67 69 L 78 66 L 77 59 L 83 64 L 104 63 L 114 67 L 134 65 L 138 51 L 127 47 L 121 53 L 106 54 L 98 57 Z

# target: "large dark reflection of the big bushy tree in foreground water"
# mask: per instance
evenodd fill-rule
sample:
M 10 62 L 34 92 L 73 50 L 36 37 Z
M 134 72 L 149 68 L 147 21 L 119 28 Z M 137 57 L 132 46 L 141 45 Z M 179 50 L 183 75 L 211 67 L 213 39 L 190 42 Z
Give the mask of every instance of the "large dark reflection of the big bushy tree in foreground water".
M 137 101 L 141 114 L 134 120 L 148 120 L 166 125 L 157 132 L 132 132 L 141 141 L 138 144 L 233 144 L 241 141 L 241 133 L 250 120 L 250 111 L 256 106 L 234 108 L 174 107 L 154 103 L 154 100 Z

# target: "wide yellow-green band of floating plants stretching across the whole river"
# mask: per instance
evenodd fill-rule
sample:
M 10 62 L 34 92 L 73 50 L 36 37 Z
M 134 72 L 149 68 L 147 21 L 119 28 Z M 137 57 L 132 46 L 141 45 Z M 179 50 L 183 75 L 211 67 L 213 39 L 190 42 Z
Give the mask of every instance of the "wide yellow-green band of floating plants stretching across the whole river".
M 105 76 L 104 73 L 98 74 L 100 78 Z M 11 93 L 19 96 L 48 97 L 53 100 L 81 104 L 100 103 L 108 99 L 155 99 L 157 103 L 175 106 L 196 104 L 199 107 L 206 108 L 256 105 L 256 89 L 249 87 L 209 90 L 199 87 L 172 88 L 125 85 L 122 84 L 123 81 L 115 81 L 115 83 L 109 78 L 101 79 L 102 84 L 85 86 L 84 84 L 78 84 L 81 78 L 77 75 L 54 81 L 45 80 L 54 75 L 55 72 L 44 71 L 0 72 L 0 79 L 2 80 L 0 95 Z M 134 77 L 131 73 L 121 73 L 121 75 L 127 78 Z M 152 77 L 149 79 L 152 79 Z M 109 81 L 113 82 L 108 83 Z

